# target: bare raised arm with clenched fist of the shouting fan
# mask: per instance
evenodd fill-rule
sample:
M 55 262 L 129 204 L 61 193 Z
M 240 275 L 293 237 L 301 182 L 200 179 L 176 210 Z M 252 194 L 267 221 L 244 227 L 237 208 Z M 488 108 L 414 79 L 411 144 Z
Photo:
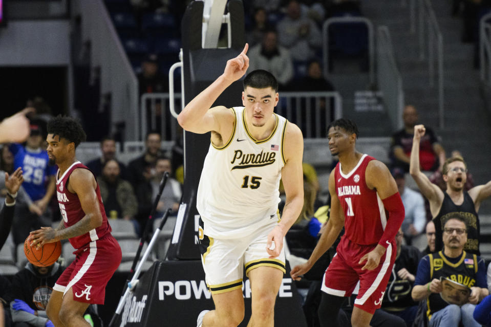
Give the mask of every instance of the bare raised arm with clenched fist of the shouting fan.
M 411 149 L 409 172 L 418 185 L 421 193 L 423 193 L 424 197 L 430 201 L 430 207 L 439 207 L 443 201 L 443 191 L 437 185 L 430 182 L 428 177 L 421 171 L 419 165 L 419 144 L 425 131 L 424 125 L 414 126 L 413 148 Z

